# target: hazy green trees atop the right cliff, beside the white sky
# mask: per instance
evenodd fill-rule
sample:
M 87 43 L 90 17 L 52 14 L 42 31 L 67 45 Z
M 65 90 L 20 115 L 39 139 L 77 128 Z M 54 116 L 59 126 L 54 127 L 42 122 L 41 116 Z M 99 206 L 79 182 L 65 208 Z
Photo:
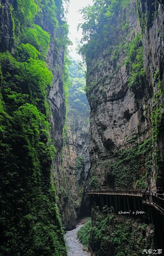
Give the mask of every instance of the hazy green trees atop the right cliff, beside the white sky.
M 129 0 L 95 0 L 93 6 L 81 9 L 83 23 L 79 27 L 83 30 L 83 38 L 80 53 L 85 57 L 87 66 L 103 50 L 108 49 L 109 53 L 115 50 L 119 42 L 114 35 L 124 34 L 128 29 L 124 9 L 129 4 Z M 121 11 L 122 16 L 118 21 Z

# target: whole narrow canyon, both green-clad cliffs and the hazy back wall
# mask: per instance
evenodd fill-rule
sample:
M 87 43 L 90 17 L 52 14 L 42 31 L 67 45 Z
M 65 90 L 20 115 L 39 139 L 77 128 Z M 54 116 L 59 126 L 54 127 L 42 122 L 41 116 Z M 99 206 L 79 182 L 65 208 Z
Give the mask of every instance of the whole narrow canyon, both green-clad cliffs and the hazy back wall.
M 164 1 L 81 13 L 86 71 L 62 0 L 0 0 L 0 256 L 65 256 L 63 229 L 90 215 L 96 256 L 158 245 L 157 226 L 91 210 L 87 190 L 164 189 Z

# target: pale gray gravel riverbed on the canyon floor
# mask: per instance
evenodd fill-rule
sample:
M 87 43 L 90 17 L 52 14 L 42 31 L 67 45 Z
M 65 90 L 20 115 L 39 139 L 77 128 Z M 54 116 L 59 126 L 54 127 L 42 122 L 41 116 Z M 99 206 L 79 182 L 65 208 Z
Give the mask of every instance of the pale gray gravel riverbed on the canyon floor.
M 67 231 L 64 235 L 68 256 L 91 256 L 90 253 L 87 251 L 83 251 L 82 244 L 79 242 L 77 238 L 77 231 L 82 227 L 83 225 L 78 225 L 76 229 L 73 229 L 71 231 Z

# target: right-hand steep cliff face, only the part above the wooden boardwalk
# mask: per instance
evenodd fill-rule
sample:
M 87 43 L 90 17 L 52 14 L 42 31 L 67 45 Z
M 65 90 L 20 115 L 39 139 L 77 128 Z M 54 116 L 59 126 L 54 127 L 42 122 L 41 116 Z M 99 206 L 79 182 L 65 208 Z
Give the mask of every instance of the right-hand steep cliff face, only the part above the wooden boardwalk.
M 106 20 L 100 16 L 82 49 L 91 106 L 90 185 L 155 190 L 163 186 L 164 6 L 133 0 L 116 5 L 104 7 Z

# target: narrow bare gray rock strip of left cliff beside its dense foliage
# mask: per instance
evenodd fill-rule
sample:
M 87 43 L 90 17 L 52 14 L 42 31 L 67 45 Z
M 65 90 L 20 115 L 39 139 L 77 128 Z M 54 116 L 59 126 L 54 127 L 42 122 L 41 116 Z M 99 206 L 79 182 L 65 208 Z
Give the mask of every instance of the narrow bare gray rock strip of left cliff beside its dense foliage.
M 45 10 L 46 11 L 46 10 Z M 58 14 L 59 24 L 62 26 L 61 16 L 59 11 Z M 36 23 L 41 25 L 44 30 L 48 31 L 51 35 L 50 48 L 46 57 L 46 63 L 53 74 L 52 86 L 48 89 L 48 101 L 50 104 L 50 137 L 57 149 L 55 158 L 52 161 L 52 178 L 53 183 L 57 189 L 57 203 L 59 207 L 59 213 L 62 217 L 62 223 L 66 225 L 66 213 L 64 211 L 64 198 L 61 196 L 60 191 L 62 187 L 66 190 L 65 174 L 63 170 L 62 161 L 62 148 L 63 148 L 63 128 L 66 119 L 66 105 L 64 96 L 64 48 L 61 43 L 57 42 L 55 37 L 56 34 L 62 36 L 62 30 L 54 29 L 54 26 L 48 22 L 46 15 L 38 15 L 36 17 Z M 61 34 L 60 34 L 61 33 Z

